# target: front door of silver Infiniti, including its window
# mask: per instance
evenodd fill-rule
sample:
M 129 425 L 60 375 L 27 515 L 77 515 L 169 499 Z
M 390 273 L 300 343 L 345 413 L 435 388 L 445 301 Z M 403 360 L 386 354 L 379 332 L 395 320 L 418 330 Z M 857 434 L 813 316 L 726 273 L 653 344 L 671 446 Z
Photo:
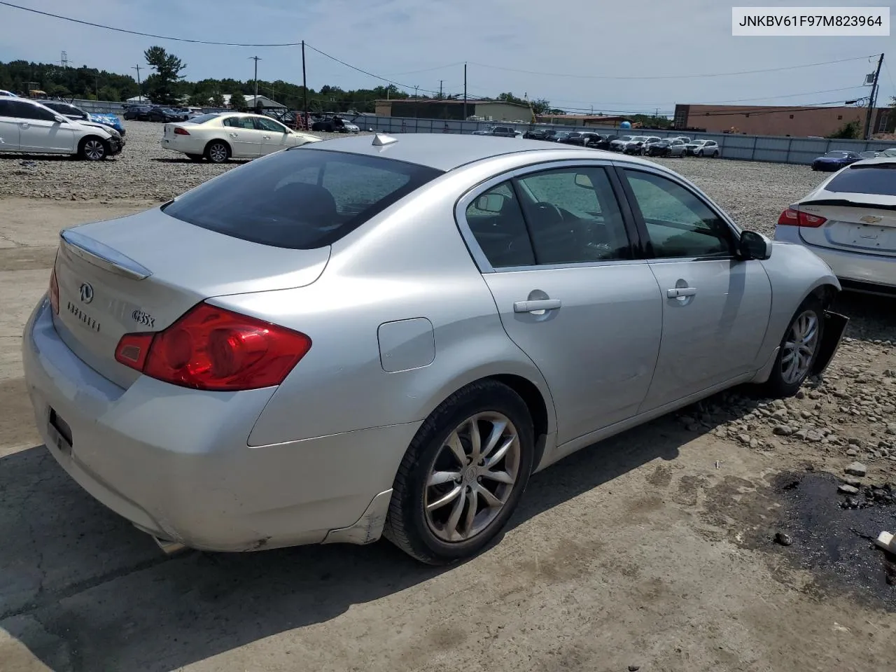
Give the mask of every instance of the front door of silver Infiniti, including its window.
M 735 254 L 737 231 L 684 181 L 619 168 L 659 283 L 663 336 L 642 411 L 754 370 L 771 312 L 762 263 Z

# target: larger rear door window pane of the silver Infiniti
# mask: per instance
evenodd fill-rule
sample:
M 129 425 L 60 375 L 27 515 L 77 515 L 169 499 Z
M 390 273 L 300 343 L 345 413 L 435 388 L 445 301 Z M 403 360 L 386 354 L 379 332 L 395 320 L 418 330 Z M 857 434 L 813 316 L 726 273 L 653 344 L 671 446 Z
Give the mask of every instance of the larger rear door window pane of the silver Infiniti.
M 536 263 L 630 257 L 625 221 L 604 168 L 558 168 L 518 183 Z

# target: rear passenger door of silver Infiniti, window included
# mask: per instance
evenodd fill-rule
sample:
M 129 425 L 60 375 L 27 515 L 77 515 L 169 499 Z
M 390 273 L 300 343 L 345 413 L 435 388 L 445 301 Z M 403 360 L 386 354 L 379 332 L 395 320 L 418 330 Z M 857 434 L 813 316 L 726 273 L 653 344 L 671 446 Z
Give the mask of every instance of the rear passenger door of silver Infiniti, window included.
M 497 177 L 458 206 L 505 332 L 550 388 L 557 444 L 632 417 L 659 352 L 659 287 L 617 194 L 605 165 L 577 162 Z

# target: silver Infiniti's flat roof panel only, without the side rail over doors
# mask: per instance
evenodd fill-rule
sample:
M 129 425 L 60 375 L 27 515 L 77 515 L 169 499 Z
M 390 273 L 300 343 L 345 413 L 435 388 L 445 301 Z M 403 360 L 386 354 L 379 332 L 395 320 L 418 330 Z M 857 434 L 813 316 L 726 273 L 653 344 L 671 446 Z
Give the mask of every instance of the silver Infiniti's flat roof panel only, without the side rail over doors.
M 302 145 L 303 149 L 347 151 L 368 156 L 416 163 L 436 170 L 452 170 L 474 161 L 528 151 L 551 151 L 555 148 L 538 140 L 510 139 L 488 135 L 413 133 L 392 135 L 398 142 L 374 145 L 374 135 L 326 140 Z M 569 151 L 589 151 L 576 145 L 564 145 Z M 616 154 L 610 154 L 616 156 Z

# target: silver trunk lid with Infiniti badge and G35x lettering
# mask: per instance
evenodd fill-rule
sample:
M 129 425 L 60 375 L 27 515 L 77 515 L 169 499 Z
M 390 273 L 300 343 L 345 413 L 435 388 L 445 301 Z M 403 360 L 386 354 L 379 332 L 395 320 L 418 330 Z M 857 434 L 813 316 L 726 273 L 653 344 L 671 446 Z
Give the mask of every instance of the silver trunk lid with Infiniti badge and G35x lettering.
M 330 247 L 246 242 L 153 209 L 65 229 L 56 256 L 60 338 L 87 365 L 128 387 L 139 373 L 116 361 L 128 332 L 160 332 L 205 298 L 304 287 Z

